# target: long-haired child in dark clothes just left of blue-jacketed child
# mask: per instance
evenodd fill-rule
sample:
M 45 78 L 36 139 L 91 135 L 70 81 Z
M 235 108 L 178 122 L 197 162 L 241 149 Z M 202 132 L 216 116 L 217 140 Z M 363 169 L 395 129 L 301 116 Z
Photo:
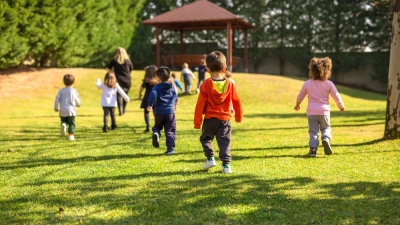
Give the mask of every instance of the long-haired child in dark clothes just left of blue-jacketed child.
M 147 111 L 147 106 L 149 103 L 149 96 L 151 93 L 151 90 L 153 90 L 154 85 L 158 83 L 157 76 L 156 76 L 156 71 L 157 67 L 154 65 L 146 66 L 144 68 L 144 79 L 142 86 L 140 86 L 139 90 L 139 100 L 142 99 L 142 103 L 140 104 L 140 108 L 143 109 L 144 113 L 144 122 L 146 123 L 146 129 L 144 132 L 150 132 L 150 116 L 149 116 L 149 111 Z M 144 92 L 144 97 L 142 98 L 142 92 Z

